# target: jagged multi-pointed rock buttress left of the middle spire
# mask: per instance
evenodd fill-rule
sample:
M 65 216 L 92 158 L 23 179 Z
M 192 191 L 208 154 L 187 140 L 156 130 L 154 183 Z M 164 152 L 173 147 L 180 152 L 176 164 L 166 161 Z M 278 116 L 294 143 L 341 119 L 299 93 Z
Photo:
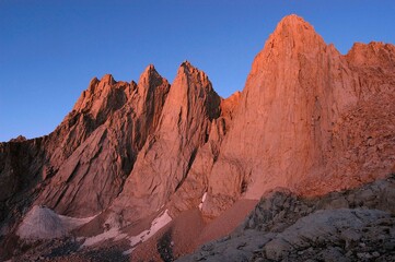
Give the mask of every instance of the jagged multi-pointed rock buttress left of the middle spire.
M 57 174 L 36 202 L 78 217 L 108 207 L 156 129 L 169 90 L 167 81 L 152 66 L 138 84 L 115 82 L 111 75 L 92 80 L 66 120 L 71 117 L 77 122 L 49 159 Z M 84 134 L 86 139 L 80 141 Z M 71 150 L 73 144 L 77 147 Z M 60 160 L 65 155 L 67 159 Z

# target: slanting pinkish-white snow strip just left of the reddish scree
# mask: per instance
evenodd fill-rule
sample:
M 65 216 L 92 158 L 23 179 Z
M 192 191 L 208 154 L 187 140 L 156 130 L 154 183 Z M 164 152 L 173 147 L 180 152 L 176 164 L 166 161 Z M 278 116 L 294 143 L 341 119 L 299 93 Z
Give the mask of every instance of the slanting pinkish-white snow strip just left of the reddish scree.
M 165 210 L 160 216 L 158 216 L 152 223 L 151 228 L 140 233 L 137 236 L 129 237 L 131 249 L 126 250 L 124 254 L 130 254 L 138 243 L 142 243 L 155 235 L 162 227 L 167 225 L 172 221 L 169 215 L 169 210 Z

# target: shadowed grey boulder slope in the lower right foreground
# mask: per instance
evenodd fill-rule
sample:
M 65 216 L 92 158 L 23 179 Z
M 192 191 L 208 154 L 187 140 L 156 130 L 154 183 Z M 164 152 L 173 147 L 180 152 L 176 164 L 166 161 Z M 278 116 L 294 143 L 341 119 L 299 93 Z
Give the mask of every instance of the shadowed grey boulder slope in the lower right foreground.
M 177 261 L 395 261 L 395 174 L 362 188 L 263 198 L 230 236 Z

